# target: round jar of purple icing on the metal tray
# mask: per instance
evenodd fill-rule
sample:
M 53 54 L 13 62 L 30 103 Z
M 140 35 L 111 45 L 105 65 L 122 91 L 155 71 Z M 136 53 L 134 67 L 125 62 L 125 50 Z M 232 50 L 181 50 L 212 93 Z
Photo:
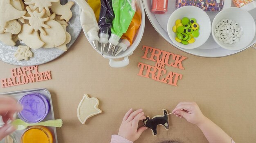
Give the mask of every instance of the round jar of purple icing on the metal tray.
M 39 93 L 27 94 L 18 102 L 23 106 L 18 116 L 27 123 L 38 123 L 45 119 L 49 112 L 49 101 Z

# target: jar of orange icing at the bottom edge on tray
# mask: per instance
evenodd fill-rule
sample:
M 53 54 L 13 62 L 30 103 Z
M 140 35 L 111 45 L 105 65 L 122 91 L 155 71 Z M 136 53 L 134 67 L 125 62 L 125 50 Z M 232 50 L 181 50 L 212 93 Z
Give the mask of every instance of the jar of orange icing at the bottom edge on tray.
M 24 132 L 21 143 L 53 143 L 51 131 L 43 126 L 34 126 Z

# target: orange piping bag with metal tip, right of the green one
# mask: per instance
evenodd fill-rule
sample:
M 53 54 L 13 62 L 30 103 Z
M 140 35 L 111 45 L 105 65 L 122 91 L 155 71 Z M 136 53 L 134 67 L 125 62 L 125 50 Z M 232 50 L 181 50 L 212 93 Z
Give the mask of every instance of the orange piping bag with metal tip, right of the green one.
M 132 18 L 132 22 L 126 33 L 121 37 L 122 41 L 118 44 L 117 52 L 115 56 L 117 56 L 120 52 L 125 51 L 130 45 L 132 45 L 133 39 L 141 25 L 141 0 L 136 1 L 136 12 Z

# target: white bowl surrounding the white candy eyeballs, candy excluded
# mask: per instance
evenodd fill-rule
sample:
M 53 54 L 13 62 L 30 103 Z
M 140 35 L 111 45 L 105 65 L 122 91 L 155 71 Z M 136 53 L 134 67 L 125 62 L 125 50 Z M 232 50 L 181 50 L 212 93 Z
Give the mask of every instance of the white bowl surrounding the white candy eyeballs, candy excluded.
M 239 42 L 234 44 L 225 44 L 223 41 L 219 41 L 218 38 L 215 37 L 214 29 L 216 29 L 216 24 L 218 24 L 218 22 L 220 22 L 222 19 L 235 20 L 239 24 L 238 26 L 243 30 L 243 35 Z M 220 13 L 216 15 L 212 23 L 211 31 L 213 39 L 216 41 L 216 43 L 218 43 L 218 45 L 220 45 L 220 47 L 227 50 L 241 50 L 252 43 L 256 32 L 256 26 L 254 18 L 247 11 L 240 8 L 231 7 L 229 9 L 220 11 Z

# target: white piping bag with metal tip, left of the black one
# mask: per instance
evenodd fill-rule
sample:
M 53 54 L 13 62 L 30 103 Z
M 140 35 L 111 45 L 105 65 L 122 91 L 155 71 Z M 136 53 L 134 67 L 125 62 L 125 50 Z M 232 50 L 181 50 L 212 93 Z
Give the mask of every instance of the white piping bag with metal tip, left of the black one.
M 85 0 L 75 0 L 80 6 L 80 19 L 83 32 L 89 37 L 89 41 L 92 43 L 93 48 L 97 51 L 99 42 L 99 25 L 95 18 L 95 14 L 90 5 Z

